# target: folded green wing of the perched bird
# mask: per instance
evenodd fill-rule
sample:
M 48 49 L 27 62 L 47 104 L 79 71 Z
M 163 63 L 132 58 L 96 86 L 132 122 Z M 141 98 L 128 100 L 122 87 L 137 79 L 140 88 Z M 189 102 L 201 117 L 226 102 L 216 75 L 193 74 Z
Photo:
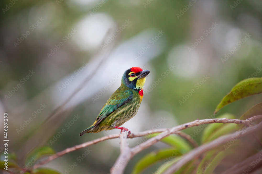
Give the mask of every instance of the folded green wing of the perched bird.
M 115 91 L 112 96 L 107 100 L 106 104 L 103 106 L 98 117 L 96 118 L 97 122 L 94 125 L 95 127 L 103 121 L 110 113 L 116 110 L 118 107 L 127 103 L 133 98 L 133 92 L 126 90 L 122 92 L 121 90 Z

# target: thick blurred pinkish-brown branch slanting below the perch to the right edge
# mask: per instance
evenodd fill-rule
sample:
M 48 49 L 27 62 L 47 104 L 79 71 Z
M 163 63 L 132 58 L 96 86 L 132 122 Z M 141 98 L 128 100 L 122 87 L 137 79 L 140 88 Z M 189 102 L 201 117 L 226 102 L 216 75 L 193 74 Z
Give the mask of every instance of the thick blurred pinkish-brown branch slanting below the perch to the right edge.
M 233 139 L 232 137 L 240 138 L 240 137 L 243 137 L 245 135 L 252 134 L 259 129 L 262 129 L 262 122 L 259 123 L 258 125 L 248 127 L 244 130 L 237 131 L 233 134 L 221 136 L 221 137 L 219 137 L 219 138 L 217 138 L 217 139 L 215 139 L 215 140 L 213 140 L 209 143 L 203 144 L 202 146 L 199 146 L 199 147 L 193 149 L 192 151 L 190 151 L 189 153 L 185 154 L 177 163 L 175 163 L 173 166 L 168 168 L 164 172 L 164 174 L 172 174 L 172 173 L 176 172 L 183 165 L 187 164 L 190 160 L 192 160 L 196 157 L 199 157 L 201 154 L 208 152 L 208 151 L 216 148 L 217 146 L 223 145 L 227 141 L 232 140 Z

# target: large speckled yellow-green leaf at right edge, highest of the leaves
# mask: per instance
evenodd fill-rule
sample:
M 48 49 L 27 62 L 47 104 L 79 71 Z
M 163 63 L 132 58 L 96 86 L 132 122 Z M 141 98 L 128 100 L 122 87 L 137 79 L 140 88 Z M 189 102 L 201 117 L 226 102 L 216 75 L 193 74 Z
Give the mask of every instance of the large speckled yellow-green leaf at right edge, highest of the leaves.
M 234 101 L 259 93 L 262 93 L 262 77 L 242 80 L 222 99 L 215 113 Z

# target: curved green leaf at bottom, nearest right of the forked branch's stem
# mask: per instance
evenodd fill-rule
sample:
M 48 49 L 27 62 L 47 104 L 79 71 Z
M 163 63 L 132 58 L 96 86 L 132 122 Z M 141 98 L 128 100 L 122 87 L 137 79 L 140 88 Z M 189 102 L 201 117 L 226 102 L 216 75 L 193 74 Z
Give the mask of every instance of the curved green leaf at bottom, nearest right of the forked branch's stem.
M 157 161 L 166 158 L 168 158 L 167 160 L 171 160 L 169 159 L 170 157 L 174 159 L 177 156 L 181 156 L 181 155 L 182 154 L 177 149 L 174 148 L 161 149 L 159 151 L 151 152 L 137 162 L 137 164 L 135 165 L 132 171 L 132 174 L 141 173 L 145 168 L 156 163 Z

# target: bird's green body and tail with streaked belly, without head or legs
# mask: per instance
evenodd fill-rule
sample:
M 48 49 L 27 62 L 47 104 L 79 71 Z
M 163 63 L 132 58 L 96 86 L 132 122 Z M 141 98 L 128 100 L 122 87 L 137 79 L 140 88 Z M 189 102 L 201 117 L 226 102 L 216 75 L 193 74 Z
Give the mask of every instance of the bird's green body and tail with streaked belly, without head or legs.
M 114 126 L 121 126 L 136 115 L 140 104 L 138 91 L 121 84 L 107 100 L 94 124 L 81 134 L 112 130 Z

